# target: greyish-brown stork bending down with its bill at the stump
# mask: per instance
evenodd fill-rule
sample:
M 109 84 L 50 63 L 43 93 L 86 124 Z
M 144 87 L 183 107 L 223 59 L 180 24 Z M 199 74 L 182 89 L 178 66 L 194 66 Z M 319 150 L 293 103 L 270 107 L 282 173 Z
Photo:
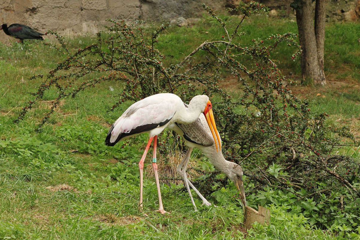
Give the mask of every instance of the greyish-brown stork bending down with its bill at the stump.
M 186 107 L 188 105 L 185 104 Z M 203 205 L 210 206 L 205 197 L 194 187 L 194 185 L 189 181 L 186 174 L 186 166 L 188 165 L 191 152 L 194 147 L 198 148 L 203 152 L 205 156 L 208 157 L 209 161 L 215 166 L 216 169 L 220 170 L 224 173 L 228 178 L 234 182 L 236 188 L 239 191 L 240 200 L 242 203 L 242 207 L 245 213 L 246 207 L 246 197 L 243 185 L 243 170 L 240 165 L 227 161 L 222 155 L 221 152 L 221 143 L 219 143 L 219 151 L 217 146 L 214 144 L 214 140 L 212 138 L 212 133 L 208 125 L 206 124 L 206 119 L 204 116 L 199 115 L 198 119 L 191 124 L 182 124 L 182 123 L 173 123 L 168 125 L 168 128 L 174 130 L 177 134 L 184 138 L 186 145 L 189 146 L 188 152 L 176 168 L 176 171 L 181 175 L 184 179 L 184 184 L 189 192 L 191 202 L 194 206 L 194 210 L 196 211 L 196 205 L 194 203 L 193 196 L 190 191 L 189 185 L 193 188 L 193 190 L 197 193 L 197 195 L 203 201 Z M 219 133 L 216 133 L 219 135 Z

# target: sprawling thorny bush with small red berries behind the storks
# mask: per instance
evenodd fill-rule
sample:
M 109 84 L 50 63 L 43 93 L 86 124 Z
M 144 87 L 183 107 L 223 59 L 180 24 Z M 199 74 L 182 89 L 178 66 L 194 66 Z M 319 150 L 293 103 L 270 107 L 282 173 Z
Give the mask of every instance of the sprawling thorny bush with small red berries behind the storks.
M 75 97 L 81 90 L 103 81 L 123 83 L 120 100 L 112 110 L 124 101 L 138 101 L 156 93 L 175 93 L 184 102 L 203 93 L 216 99 L 214 109 L 224 142 L 223 153 L 228 160 L 243 166 L 247 185 L 254 186 L 248 192 L 270 186 L 292 192 L 298 200 L 313 197 L 320 201 L 320 197 L 330 196 L 333 191 L 348 192 L 342 199 L 346 202 L 360 197 L 359 162 L 333 154 L 342 146 L 341 138 L 355 142 L 354 138 L 346 129 L 325 125 L 327 114 L 312 112 L 306 100 L 297 98 L 283 84 L 287 79 L 278 62 L 271 59 L 279 44 L 287 44 L 294 48 L 294 54 L 289 56 L 294 60 L 301 53 L 294 40 L 297 35 L 275 34 L 245 45 L 240 41 L 245 34 L 240 32 L 241 25 L 250 15 L 264 12 L 264 5 L 240 3 L 236 9 L 229 9 L 242 16 L 231 30 L 211 8 L 203 7 L 224 34 L 217 40 L 205 41 L 180 63 L 170 66 L 163 64 L 166 56 L 157 49 L 158 36 L 168 24 L 147 30 L 140 27 L 141 22 L 108 20 L 112 23 L 105 26 L 108 35 L 99 32 L 94 44 L 75 52 L 67 48 L 57 32 L 48 31 L 47 34 L 56 36 L 59 45 L 46 45 L 66 58 L 47 75 L 31 77 L 44 80 L 33 93 L 34 100 L 15 121 L 23 119 L 50 86 L 55 86 L 59 95 L 40 126 L 49 119 L 60 99 Z M 243 59 L 251 59 L 251 63 L 245 65 Z M 101 76 L 89 77 L 94 73 Z M 225 75 L 238 80 L 239 97 L 234 98 L 219 87 Z M 359 219 L 355 221 L 360 223 Z

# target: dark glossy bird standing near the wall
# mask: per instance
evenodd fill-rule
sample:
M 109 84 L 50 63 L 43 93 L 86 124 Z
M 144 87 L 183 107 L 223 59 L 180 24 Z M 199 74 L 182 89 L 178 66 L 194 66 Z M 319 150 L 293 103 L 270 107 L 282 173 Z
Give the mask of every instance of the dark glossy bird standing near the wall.
M 7 24 L 0 25 L 0 30 L 4 30 L 6 35 L 13 36 L 19 39 L 19 43 L 23 43 L 24 39 L 39 39 L 43 40 L 40 32 L 33 30 L 31 27 L 14 23 L 8 27 Z

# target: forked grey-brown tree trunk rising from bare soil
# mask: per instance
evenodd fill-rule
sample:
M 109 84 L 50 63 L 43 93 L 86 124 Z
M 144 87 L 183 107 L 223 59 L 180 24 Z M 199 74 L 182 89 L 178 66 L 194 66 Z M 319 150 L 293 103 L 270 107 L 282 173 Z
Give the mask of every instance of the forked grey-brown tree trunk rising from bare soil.
M 325 1 L 316 0 L 315 26 L 312 0 L 295 0 L 296 22 L 302 48 L 301 73 L 305 83 L 325 85 Z

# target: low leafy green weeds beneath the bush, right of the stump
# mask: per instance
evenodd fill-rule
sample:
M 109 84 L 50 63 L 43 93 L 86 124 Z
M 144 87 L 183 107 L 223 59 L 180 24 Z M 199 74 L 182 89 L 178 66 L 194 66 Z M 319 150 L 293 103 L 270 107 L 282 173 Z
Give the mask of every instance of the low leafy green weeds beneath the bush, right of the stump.
M 321 184 L 321 183 L 319 183 Z M 307 198 L 311 191 L 291 188 L 287 191 L 266 187 L 255 196 L 255 202 L 261 205 L 282 206 L 293 214 L 301 214 L 306 222 L 316 227 L 325 226 L 330 231 L 340 232 L 341 236 L 354 237 L 360 234 L 359 199 L 348 192 L 331 192 L 319 197 Z M 312 195 L 314 196 L 314 194 Z

